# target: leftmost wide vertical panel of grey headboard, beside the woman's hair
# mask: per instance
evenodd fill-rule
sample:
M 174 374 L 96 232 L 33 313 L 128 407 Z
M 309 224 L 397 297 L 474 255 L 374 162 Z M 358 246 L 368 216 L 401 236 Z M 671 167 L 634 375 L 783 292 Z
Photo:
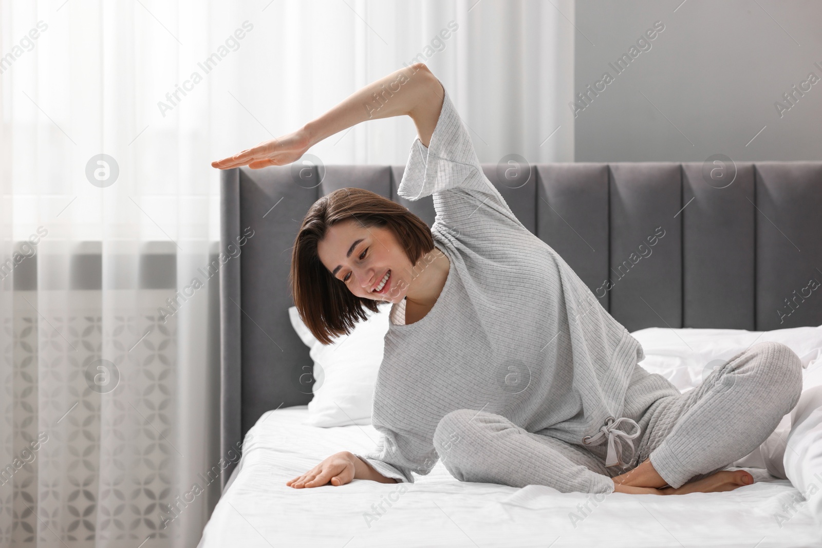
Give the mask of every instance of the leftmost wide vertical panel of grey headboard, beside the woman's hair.
M 241 302 L 227 300 L 223 306 L 242 306 L 245 434 L 263 412 L 280 405 L 305 405 L 312 398 L 310 386 L 299 383 L 300 375 L 312 371 L 312 360 L 289 321 L 293 299 L 288 279 L 291 247 L 318 189 L 311 187 L 316 184 L 311 177 L 295 182 L 288 166 L 242 168 L 239 173 L 239 230 L 250 227 L 254 235 L 239 256 Z

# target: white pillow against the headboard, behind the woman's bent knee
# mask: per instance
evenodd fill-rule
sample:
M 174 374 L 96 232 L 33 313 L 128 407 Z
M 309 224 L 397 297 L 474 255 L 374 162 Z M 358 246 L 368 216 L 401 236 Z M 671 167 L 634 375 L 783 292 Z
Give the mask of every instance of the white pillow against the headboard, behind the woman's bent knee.
M 640 342 L 645 354 L 640 366 L 663 375 L 683 393 L 702 384 L 723 360 L 755 343 L 774 341 L 787 345 L 806 369 L 822 359 L 822 325 L 771 331 L 649 327 L 631 335 Z

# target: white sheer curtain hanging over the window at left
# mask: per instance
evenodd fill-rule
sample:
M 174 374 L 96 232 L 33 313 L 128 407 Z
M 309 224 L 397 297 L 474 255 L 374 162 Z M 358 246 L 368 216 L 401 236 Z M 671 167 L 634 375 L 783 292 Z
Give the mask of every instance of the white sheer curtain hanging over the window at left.
M 0 0 L 0 546 L 196 546 L 235 458 L 211 160 L 423 61 L 481 161 L 572 161 L 573 19 L 571 0 Z M 414 135 L 377 120 L 311 152 L 405 163 Z

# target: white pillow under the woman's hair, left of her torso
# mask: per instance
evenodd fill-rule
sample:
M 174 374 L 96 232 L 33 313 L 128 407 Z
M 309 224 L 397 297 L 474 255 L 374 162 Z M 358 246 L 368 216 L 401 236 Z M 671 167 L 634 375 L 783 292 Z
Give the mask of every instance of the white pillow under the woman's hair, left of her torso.
M 367 320 L 349 335 L 321 344 L 302 322 L 296 306 L 289 307 L 294 331 L 311 351 L 314 361 L 314 398 L 308 403 L 311 426 L 371 424 L 376 374 L 382 363 L 391 303 L 379 303 L 379 311 L 367 312 Z

